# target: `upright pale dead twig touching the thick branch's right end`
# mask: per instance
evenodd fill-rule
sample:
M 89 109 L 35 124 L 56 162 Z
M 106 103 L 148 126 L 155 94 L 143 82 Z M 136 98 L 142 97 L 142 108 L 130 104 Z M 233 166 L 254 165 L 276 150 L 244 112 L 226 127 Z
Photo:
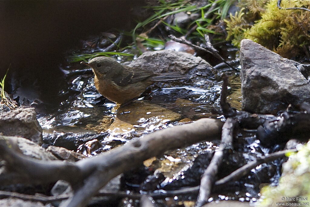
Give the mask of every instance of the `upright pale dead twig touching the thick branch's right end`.
M 214 185 L 219 166 L 223 162 L 224 154 L 227 152 L 228 149 L 232 149 L 233 129 L 236 122 L 236 120 L 228 118 L 223 125 L 222 140 L 219 145 L 219 149 L 215 151 L 212 160 L 205 172 L 203 173 L 200 181 L 200 189 L 196 202 L 197 206 L 205 205 L 210 198 L 211 190 Z

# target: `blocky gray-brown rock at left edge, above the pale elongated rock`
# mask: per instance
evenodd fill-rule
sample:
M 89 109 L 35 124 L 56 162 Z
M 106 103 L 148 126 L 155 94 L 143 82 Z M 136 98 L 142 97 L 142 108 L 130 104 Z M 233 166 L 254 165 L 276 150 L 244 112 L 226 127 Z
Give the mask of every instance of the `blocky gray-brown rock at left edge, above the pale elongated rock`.
M 20 108 L 0 115 L 0 133 L 20 136 L 42 144 L 42 128 L 34 108 Z

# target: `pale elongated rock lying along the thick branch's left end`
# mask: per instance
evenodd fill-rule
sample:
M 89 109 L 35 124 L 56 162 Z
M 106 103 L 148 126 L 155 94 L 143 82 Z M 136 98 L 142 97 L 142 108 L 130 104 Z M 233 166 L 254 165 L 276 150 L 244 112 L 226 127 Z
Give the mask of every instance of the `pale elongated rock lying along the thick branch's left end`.
M 23 155 L 38 159 L 38 160 L 57 160 L 57 158 L 51 153 L 47 152 L 43 147 L 38 144 L 25 139 L 23 137 L 9 137 L 1 136 L 3 139 L 16 143 L 20 153 Z

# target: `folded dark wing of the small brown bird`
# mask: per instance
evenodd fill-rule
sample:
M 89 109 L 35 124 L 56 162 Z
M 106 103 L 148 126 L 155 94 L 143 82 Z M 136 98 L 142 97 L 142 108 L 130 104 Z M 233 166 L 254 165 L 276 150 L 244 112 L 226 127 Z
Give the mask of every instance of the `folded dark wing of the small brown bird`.
M 124 72 L 121 76 L 115 77 L 113 81 L 119 86 L 125 86 L 131 83 L 137 83 L 156 75 L 152 71 L 136 69 L 124 66 Z

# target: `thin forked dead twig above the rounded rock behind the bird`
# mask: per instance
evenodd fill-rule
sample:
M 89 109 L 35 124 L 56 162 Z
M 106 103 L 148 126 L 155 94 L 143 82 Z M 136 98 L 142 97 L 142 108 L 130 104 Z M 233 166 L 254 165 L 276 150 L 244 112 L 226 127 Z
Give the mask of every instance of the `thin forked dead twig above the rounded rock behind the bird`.
M 209 41 L 209 36 L 205 35 L 205 40 L 206 40 L 206 45 L 207 45 L 207 49 L 199 47 L 197 45 L 194 45 L 192 43 L 189 43 L 188 41 L 184 40 L 184 39 L 180 39 L 180 38 L 176 38 L 175 36 L 173 36 L 172 34 L 170 34 L 168 36 L 171 40 L 178 42 L 178 43 L 183 43 L 186 44 L 188 46 L 194 47 L 196 49 L 202 50 L 204 52 L 208 52 L 210 54 L 212 54 L 213 56 L 215 56 L 217 59 L 223 61 L 228 67 L 230 67 L 232 70 L 234 70 L 235 72 L 239 72 L 239 70 L 237 70 L 236 68 L 234 68 L 232 65 L 230 65 L 228 62 L 226 62 L 224 60 L 224 58 L 222 58 L 219 55 L 219 52 L 211 45 L 210 41 Z

